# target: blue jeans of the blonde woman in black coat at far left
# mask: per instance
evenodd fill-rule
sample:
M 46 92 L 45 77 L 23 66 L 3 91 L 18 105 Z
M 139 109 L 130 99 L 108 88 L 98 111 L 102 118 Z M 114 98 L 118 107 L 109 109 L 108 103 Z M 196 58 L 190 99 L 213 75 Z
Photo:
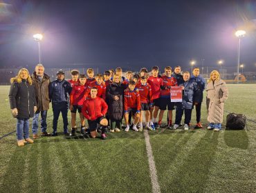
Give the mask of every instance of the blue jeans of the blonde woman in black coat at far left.
M 17 118 L 16 135 L 17 140 L 27 139 L 29 137 L 29 119 Z

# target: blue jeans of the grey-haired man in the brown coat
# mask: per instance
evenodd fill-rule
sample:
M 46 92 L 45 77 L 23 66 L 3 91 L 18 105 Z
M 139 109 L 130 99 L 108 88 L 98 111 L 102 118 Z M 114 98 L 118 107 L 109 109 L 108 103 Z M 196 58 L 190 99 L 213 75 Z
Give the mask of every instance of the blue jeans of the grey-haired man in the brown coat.
M 37 130 L 39 126 L 38 118 L 40 113 L 41 113 L 41 132 L 46 132 L 46 129 L 47 129 L 47 123 L 46 123 L 47 110 L 42 110 L 42 111 L 39 111 L 38 113 L 35 113 L 33 117 L 33 125 L 32 125 L 33 134 L 37 134 Z

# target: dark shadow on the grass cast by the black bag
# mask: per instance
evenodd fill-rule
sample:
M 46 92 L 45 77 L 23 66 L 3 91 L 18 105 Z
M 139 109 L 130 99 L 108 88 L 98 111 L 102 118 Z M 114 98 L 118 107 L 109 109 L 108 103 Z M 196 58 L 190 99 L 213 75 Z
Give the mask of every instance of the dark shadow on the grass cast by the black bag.
M 248 149 L 249 139 L 246 130 L 225 130 L 224 140 L 231 148 Z

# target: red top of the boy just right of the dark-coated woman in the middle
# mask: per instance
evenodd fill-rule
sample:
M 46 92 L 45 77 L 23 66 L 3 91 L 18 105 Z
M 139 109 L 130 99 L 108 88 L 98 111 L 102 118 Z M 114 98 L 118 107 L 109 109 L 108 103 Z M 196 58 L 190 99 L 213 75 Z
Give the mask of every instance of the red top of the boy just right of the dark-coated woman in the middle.
M 125 111 L 127 111 L 129 108 L 136 108 L 137 110 L 140 110 L 140 94 L 136 90 L 130 91 L 129 89 L 126 89 L 124 96 Z

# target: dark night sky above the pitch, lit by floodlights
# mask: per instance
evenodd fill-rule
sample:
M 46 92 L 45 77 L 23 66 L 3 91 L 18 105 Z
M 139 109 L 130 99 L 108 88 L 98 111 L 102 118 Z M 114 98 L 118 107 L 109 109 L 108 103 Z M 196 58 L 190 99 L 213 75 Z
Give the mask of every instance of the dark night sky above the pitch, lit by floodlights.
M 241 63 L 256 71 L 256 1 L 1 1 L 0 68 L 34 66 L 44 34 L 46 67 L 237 65 L 234 32 L 246 29 Z M 85 66 L 85 65 L 84 65 Z M 230 68 L 231 69 L 231 68 Z

